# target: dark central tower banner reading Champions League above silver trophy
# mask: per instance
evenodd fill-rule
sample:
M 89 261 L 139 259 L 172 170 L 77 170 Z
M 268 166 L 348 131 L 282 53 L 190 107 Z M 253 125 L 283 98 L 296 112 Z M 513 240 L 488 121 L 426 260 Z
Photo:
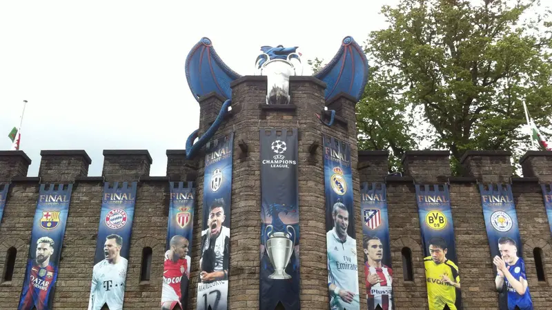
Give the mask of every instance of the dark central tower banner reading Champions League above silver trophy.
M 261 129 L 260 309 L 299 307 L 297 129 Z

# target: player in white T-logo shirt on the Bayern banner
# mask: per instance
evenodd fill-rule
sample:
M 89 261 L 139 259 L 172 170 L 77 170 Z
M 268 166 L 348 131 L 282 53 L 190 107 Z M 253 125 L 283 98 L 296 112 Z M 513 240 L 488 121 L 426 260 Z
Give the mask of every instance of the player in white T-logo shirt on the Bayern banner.
M 121 257 L 123 238 L 109 235 L 103 244 L 106 259 L 94 266 L 88 310 L 101 310 L 107 304 L 110 310 L 122 310 L 125 296 L 126 268 L 128 260 Z

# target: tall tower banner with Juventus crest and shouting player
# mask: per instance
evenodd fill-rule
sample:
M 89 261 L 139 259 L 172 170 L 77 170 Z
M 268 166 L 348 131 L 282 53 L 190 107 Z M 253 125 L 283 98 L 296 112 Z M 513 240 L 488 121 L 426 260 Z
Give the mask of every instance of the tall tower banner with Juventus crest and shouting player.
M 228 309 L 234 134 L 206 145 L 197 310 Z

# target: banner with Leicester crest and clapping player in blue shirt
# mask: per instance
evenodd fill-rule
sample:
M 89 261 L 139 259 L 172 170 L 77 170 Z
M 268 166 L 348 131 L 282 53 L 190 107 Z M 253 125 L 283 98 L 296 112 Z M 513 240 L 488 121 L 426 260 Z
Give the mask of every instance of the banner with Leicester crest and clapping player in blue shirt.
M 533 309 L 522 258 L 522 242 L 517 213 L 509 184 L 479 185 L 483 217 L 496 270 L 499 309 Z

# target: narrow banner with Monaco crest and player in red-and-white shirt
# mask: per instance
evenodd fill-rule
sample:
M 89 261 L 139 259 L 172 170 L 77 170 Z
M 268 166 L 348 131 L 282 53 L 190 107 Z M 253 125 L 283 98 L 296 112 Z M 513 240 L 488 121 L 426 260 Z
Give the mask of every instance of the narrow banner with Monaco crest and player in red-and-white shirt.
M 188 309 L 190 249 L 192 249 L 195 188 L 193 183 L 171 182 L 167 247 L 163 267 L 161 309 Z

